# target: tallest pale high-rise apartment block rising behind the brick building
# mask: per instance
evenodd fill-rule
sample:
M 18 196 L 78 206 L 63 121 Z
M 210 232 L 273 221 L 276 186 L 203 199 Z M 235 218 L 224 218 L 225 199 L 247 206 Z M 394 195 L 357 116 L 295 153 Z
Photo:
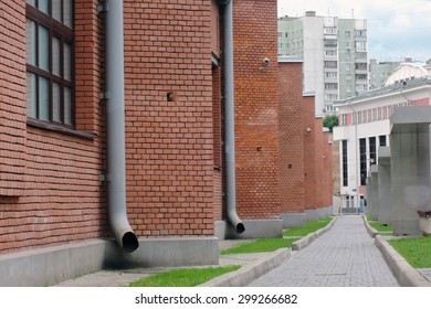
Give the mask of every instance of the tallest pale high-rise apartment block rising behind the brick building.
M 278 19 L 278 55 L 304 60 L 304 93 L 315 93 L 316 116 L 368 89 L 367 21 L 318 17 Z

